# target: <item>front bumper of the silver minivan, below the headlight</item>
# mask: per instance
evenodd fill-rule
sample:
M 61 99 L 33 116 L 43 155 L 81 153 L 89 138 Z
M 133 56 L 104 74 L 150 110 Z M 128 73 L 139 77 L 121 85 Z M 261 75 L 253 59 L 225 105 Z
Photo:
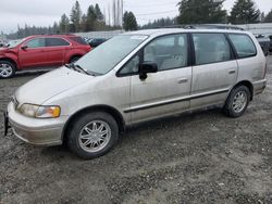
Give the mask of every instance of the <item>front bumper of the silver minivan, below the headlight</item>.
M 8 126 L 21 140 L 35 145 L 62 144 L 62 130 L 67 117 L 38 119 L 26 117 L 15 111 L 13 103 L 8 105 Z

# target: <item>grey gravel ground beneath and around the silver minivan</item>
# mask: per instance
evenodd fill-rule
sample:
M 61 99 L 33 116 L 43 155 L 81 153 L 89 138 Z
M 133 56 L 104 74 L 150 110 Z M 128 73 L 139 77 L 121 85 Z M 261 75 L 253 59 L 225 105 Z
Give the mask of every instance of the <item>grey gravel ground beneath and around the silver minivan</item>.
M 0 203 L 272 203 L 272 56 L 268 88 L 240 118 L 199 111 L 129 129 L 109 154 L 83 161 L 35 148 L 0 117 Z M 0 112 L 38 74 L 0 81 Z

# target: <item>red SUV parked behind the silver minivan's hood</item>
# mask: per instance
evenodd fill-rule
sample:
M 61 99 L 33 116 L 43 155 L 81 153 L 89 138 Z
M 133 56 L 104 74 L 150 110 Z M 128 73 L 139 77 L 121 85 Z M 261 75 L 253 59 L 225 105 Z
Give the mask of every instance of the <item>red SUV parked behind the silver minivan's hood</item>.
M 11 78 L 16 71 L 72 63 L 90 50 L 75 35 L 39 35 L 13 40 L 8 48 L 0 48 L 0 78 Z

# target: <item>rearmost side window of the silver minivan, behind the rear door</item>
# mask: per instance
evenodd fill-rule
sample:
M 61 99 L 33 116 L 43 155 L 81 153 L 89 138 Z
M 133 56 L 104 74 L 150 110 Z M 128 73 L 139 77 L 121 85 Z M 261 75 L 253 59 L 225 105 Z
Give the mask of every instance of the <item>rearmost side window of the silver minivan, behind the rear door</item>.
M 228 36 L 239 59 L 250 58 L 257 54 L 254 41 L 249 36 L 244 34 L 230 34 Z

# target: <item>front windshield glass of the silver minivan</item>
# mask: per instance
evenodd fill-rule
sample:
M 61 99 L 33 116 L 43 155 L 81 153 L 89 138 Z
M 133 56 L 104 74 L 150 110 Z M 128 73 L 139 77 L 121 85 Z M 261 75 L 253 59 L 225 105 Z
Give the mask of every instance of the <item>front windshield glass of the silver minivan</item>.
M 143 35 L 121 35 L 113 37 L 91 50 L 78 60 L 76 64 L 90 73 L 104 75 L 147 38 L 148 36 Z

